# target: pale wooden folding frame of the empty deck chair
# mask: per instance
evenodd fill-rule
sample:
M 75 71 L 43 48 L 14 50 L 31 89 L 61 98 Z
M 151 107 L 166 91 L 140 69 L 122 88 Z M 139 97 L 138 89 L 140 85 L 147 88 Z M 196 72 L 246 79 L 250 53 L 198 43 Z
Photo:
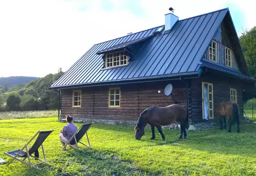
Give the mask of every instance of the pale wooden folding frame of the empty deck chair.
M 6 153 L 6 152 L 5 152 L 6 155 L 8 155 L 9 157 L 12 158 L 12 159 L 10 160 L 10 162 L 8 162 L 8 163 L 6 164 L 6 167 L 8 167 L 9 164 L 14 161 L 14 159 L 17 160 L 17 161 L 20 161 L 20 162 L 22 162 L 22 163 L 24 163 L 24 164 L 26 164 L 26 165 L 28 165 L 28 166 L 31 167 L 31 168 L 37 168 L 37 169 L 39 169 L 39 167 L 38 167 L 37 165 L 39 165 L 39 164 L 41 164 L 41 163 L 43 163 L 43 162 L 46 163 L 46 164 L 49 164 L 49 163 L 46 161 L 45 152 L 44 152 L 44 149 L 43 149 L 43 144 L 41 144 L 41 147 L 42 147 L 42 151 L 43 151 L 43 159 L 44 159 L 44 161 L 41 160 L 41 159 L 39 159 L 38 157 L 33 156 L 32 154 L 29 155 L 29 148 L 28 148 L 28 145 L 29 145 L 29 143 L 30 143 L 40 132 L 41 132 L 41 131 L 39 130 L 39 131 L 29 140 L 29 142 L 28 142 L 27 144 L 25 144 L 23 148 L 20 149 L 20 151 L 19 151 L 14 157 L 11 156 L 9 153 Z M 53 132 L 53 130 L 52 130 L 52 132 Z M 52 132 L 51 132 L 51 133 L 52 133 Z M 51 134 L 51 133 L 50 133 L 50 134 Z M 26 149 L 25 151 L 23 151 L 24 148 Z M 26 152 L 26 153 L 27 153 L 27 157 L 24 157 L 23 159 L 19 159 L 19 158 L 21 158 L 21 157 L 18 158 L 17 156 L 18 156 L 19 153 L 21 153 L 21 152 Z M 33 158 L 39 160 L 40 162 L 39 162 L 39 163 L 36 163 L 36 164 L 32 164 L 30 157 L 33 157 Z M 28 162 L 25 162 L 25 160 L 26 160 L 27 158 L 28 158 Z

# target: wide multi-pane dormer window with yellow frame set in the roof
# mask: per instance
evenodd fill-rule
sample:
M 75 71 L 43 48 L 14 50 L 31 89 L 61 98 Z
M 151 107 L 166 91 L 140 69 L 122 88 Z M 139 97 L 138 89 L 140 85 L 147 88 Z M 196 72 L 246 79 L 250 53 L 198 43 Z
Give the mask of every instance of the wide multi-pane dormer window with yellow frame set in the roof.
M 106 68 L 127 65 L 127 63 L 128 56 L 125 55 L 124 51 L 106 54 Z

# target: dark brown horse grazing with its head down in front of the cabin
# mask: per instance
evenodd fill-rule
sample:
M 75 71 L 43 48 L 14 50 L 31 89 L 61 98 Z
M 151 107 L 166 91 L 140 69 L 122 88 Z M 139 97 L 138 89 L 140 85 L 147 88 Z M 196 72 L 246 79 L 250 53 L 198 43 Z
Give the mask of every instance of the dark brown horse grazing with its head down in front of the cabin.
M 169 125 L 174 120 L 180 124 L 180 136 L 179 139 L 182 139 L 184 133 L 184 139 L 187 139 L 187 133 L 185 129 L 185 123 L 187 119 L 187 110 L 185 107 L 173 104 L 167 107 L 156 107 L 152 106 L 145 109 L 137 121 L 137 124 L 134 128 L 136 131 L 135 139 L 140 140 L 140 138 L 145 134 L 144 128 L 147 124 L 150 124 L 152 131 L 152 139 L 155 139 L 155 127 L 162 136 L 162 140 L 165 140 L 165 136 L 162 132 L 161 125 Z

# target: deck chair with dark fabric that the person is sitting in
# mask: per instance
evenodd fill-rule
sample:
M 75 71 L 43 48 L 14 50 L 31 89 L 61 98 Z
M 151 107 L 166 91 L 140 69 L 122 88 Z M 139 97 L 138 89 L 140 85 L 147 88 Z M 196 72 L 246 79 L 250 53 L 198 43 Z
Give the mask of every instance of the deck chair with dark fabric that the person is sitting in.
M 69 145 L 70 147 L 75 148 L 77 150 L 82 150 L 83 148 L 78 147 L 78 143 L 86 146 L 84 148 L 87 148 L 87 147 L 92 148 L 91 144 L 90 144 L 90 141 L 89 141 L 89 138 L 88 138 L 88 134 L 87 134 L 87 131 L 90 129 L 92 124 L 93 123 L 82 124 L 67 142 L 60 139 L 63 143 L 65 143 L 65 146 L 63 146 L 62 149 L 66 148 L 67 145 Z M 82 139 L 82 137 L 84 136 L 84 134 L 86 134 L 86 136 L 87 136 L 88 145 L 86 145 L 86 144 L 84 144 L 80 141 Z M 74 146 L 74 144 L 76 144 L 76 145 Z

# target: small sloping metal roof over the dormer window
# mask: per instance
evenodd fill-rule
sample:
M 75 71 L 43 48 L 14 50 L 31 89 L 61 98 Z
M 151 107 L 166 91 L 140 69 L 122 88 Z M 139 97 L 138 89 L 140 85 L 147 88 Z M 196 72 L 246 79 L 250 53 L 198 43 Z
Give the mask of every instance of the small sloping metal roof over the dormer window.
M 142 37 L 142 38 L 138 38 L 138 39 L 135 39 L 135 40 L 132 40 L 132 41 L 129 41 L 129 42 L 124 42 L 124 43 L 121 43 L 121 44 L 118 44 L 118 45 L 115 45 L 115 46 L 111 46 L 109 48 L 106 48 L 104 50 L 101 50 L 101 51 L 98 51 L 96 54 L 103 54 L 105 52 L 109 52 L 109 51 L 115 51 L 115 50 L 118 50 L 118 49 L 121 49 L 121 48 L 124 48 L 124 47 L 128 47 L 128 46 L 132 46 L 138 42 L 142 42 L 148 38 L 151 38 L 153 37 L 153 35 L 150 35 L 150 36 L 147 36 L 147 37 Z

